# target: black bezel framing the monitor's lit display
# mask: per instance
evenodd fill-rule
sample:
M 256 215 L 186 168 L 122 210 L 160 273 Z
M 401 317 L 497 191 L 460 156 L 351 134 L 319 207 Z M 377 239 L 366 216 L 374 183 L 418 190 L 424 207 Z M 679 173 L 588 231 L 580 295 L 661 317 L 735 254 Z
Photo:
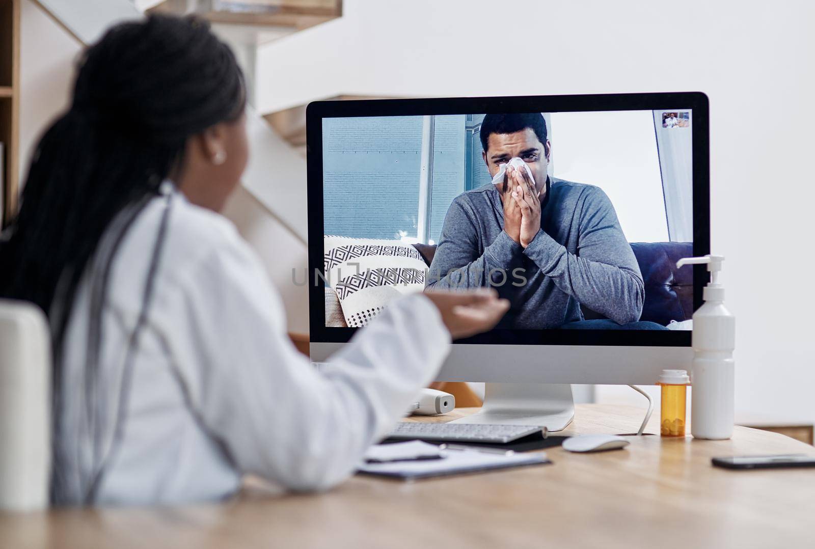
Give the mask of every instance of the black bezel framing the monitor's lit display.
M 650 94 L 531 95 L 443 99 L 315 101 L 306 108 L 308 200 L 308 292 L 311 342 L 346 343 L 359 328 L 326 327 L 323 218 L 323 119 L 354 116 L 425 116 L 501 112 L 693 111 L 694 256 L 710 253 L 710 147 L 707 95 L 702 92 Z M 709 275 L 694 268 L 694 310 L 702 305 Z M 689 331 L 500 329 L 456 343 L 486 345 L 628 345 L 689 347 Z

